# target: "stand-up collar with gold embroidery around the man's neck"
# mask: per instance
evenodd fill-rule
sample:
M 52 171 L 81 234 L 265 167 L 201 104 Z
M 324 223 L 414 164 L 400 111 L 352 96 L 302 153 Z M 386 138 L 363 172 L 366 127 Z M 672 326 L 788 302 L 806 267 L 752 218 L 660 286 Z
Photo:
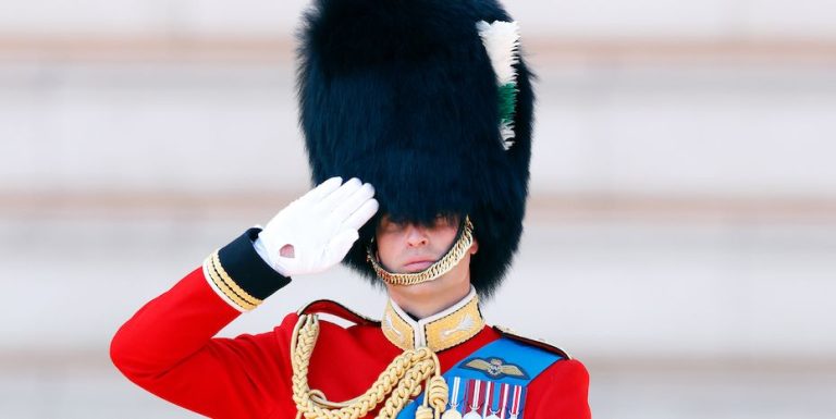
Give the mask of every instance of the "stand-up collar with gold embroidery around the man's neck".
M 470 287 L 453 307 L 417 321 L 390 298 L 381 324 L 389 341 L 404 350 L 426 346 L 439 352 L 476 336 L 484 328 L 484 319 L 476 289 Z

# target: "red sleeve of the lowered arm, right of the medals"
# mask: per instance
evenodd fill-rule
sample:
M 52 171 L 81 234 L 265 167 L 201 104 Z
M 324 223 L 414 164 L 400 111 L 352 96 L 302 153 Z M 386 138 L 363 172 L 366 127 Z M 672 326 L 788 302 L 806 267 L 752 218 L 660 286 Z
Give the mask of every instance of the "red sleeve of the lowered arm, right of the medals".
M 590 419 L 589 373 L 575 359 L 554 362 L 528 386 L 526 419 Z

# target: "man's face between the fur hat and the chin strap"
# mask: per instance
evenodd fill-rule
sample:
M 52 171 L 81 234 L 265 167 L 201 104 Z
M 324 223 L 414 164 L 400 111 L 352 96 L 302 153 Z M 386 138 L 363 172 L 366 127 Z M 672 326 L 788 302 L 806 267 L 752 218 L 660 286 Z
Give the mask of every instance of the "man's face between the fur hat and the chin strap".
M 383 215 L 377 229 L 378 260 L 390 272 L 420 272 L 444 256 L 457 233 L 455 218 L 439 217 L 432 225 L 418 225 Z

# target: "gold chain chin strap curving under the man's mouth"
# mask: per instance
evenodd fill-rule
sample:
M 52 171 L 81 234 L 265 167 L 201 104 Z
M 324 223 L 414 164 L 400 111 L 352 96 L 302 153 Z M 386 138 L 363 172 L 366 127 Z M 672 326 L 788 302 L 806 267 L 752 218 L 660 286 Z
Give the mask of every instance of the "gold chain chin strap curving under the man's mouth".
M 464 227 L 462 234 L 455 244 L 447 250 L 447 254 L 443 258 L 432 263 L 429 268 L 420 272 L 415 273 L 393 273 L 388 271 L 378 261 L 374 256 L 374 250 L 370 245 L 367 248 L 366 259 L 371 263 L 378 278 L 392 285 L 415 285 L 423 282 L 432 281 L 447 272 L 455 267 L 467 255 L 467 250 L 474 244 L 474 224 L 470 222 L 469 217 L 465 217 Z

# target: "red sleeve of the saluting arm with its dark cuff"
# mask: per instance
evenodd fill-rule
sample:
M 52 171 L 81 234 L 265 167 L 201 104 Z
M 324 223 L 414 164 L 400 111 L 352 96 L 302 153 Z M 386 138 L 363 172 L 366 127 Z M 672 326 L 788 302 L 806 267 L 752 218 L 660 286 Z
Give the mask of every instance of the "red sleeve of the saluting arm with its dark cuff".
M 258 264 L 262 261 L 246 235 L 216 252 L 217 267 L 239 293 L 266 298 L 290 280 Z M 213 337 L 241 310 L 222 299 L 205 272 L 196 269 L 125 322 L 111 342 L 111 359 L 134 383 L 198 414 L 268 417 L 276 397 L 290 393 L 286 331 L 293 330 L 295 315 L 270 333 Z

